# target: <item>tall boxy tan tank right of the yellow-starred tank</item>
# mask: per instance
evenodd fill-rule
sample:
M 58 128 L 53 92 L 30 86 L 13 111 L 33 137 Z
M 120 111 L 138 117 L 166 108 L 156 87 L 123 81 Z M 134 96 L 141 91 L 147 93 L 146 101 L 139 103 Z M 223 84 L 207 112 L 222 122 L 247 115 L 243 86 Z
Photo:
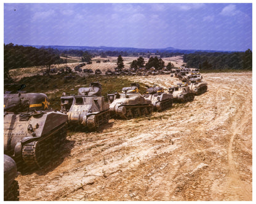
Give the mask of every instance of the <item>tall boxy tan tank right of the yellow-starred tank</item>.
M 98 82 L 90 83 L 87 88 L 79 88 L 77 96 L 64 96 L 61 100 L 62 111 L 66 111 L 69 123 L 80 124 L 89 129 L 108 123 L 110 105 L 105 102 L 102 85 Z

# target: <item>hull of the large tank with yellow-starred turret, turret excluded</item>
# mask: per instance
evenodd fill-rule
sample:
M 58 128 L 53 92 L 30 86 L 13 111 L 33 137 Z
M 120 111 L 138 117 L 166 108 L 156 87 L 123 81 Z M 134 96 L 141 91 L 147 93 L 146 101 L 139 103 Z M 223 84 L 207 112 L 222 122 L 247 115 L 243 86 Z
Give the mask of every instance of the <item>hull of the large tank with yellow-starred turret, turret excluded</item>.
M 48 164 L 66 138 L 68 116 L 58 111 L 4 114 L 4 153 L 17 165 L 31 168 Z

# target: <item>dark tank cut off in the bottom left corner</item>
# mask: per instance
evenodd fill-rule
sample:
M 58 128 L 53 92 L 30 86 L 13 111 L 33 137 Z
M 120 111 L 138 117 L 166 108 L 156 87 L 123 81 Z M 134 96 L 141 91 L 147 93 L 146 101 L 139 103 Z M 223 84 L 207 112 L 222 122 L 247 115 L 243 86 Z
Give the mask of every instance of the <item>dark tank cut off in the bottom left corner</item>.
M 4 154 L 4 201 L 18 201 L 20 191 L 18 181 L 15 180 L 17 165 L 15 161 Z

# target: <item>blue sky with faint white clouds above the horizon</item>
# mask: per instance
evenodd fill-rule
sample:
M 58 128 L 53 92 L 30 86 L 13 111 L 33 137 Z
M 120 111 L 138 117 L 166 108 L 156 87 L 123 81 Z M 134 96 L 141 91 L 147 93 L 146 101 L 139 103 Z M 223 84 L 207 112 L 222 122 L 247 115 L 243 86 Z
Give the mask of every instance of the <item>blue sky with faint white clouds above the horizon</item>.
M 252 3 L 4 3 L 4 43 L 252 50 Z

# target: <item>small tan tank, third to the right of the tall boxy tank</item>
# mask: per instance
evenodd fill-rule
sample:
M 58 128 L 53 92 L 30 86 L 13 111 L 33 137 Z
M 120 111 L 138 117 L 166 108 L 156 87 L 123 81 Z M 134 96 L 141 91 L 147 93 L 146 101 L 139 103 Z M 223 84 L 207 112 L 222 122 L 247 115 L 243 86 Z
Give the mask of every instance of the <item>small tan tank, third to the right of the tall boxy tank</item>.
M 186 103 L 194 100 L 194 93 L 188 87 L 188 83 L 177 83 L 177 86 L 169 88 L 169 93 L 174 97 L 174 102 Z

